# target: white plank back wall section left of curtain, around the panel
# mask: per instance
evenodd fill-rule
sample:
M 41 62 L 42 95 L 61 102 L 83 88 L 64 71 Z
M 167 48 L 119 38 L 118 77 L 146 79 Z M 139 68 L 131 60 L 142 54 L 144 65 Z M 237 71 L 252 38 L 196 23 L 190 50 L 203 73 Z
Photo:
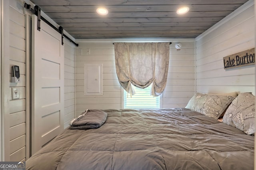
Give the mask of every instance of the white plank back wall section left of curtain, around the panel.
M 90 54 L 87 51 L 90 50 Z M 113 43 L 79 43 L 76 47 L 76 116 L 85 109 L 121 109 L 121 86 L 116 76 Z M 103 95 L 84 95 L 84 64 L 103 64 Z

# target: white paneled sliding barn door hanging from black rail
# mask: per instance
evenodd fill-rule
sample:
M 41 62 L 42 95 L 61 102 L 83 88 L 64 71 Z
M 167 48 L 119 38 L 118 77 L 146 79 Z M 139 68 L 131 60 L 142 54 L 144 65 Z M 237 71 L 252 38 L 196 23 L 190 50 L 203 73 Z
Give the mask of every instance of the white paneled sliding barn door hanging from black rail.
M 32 15 L 32 154 L 64 129 L 64 46 L 61 34 Z

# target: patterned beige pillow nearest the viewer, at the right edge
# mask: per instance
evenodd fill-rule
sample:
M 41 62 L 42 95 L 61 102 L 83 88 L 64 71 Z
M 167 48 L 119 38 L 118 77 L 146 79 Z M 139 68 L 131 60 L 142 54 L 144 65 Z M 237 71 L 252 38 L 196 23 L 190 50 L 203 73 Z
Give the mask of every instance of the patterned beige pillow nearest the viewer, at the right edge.
M 255 96 L 251 93 L 239 94 L 228 107 L 223 123 L 236 127 L 248 135 L 255 131 Z

